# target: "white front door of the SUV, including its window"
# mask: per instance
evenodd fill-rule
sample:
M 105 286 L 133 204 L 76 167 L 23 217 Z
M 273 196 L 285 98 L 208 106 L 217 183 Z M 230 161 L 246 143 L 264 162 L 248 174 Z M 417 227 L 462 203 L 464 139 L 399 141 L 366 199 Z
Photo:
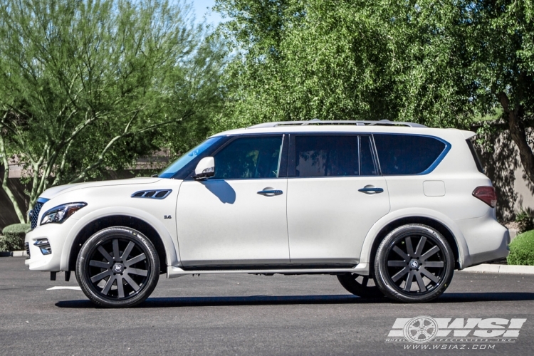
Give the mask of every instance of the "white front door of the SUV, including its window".
M 215 175 L 179 189 L 177 231 L 184 266 L 289 262 L 283 135 L 238 137 L 214 155 Z

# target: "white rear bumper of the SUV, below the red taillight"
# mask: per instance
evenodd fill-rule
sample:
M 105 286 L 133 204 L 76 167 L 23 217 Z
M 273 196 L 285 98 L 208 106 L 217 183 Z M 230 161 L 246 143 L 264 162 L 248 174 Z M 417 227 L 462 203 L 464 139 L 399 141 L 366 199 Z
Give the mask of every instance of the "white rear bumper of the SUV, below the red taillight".
M 508 256 L 510 234 L 508 229 L 495 219 L 493 209 L 489 209 L 485 216 L 455 222 L 464 234 L 469 251 L 469 258 L 466 258 L 462 268 Z

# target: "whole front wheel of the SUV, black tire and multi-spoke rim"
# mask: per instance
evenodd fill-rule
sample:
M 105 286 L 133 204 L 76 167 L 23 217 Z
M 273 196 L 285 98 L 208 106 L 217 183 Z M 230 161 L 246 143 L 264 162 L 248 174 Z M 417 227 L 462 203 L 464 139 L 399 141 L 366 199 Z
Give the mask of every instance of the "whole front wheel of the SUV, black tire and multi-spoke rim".
M 159 258 L 152 242 L 139 231 L 109 227 L 83 244 L 76 261 L 76 279 L 96 305 L 131 307 L 156 288 Z

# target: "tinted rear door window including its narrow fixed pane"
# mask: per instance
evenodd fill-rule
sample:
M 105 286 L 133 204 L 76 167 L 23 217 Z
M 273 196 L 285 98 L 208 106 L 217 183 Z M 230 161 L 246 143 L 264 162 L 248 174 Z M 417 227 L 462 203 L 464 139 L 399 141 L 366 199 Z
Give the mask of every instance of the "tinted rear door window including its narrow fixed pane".
M 367 137 L 369 147 L 370 137 Z M 360 174 L 358 137 L 353 136 L 297 136 L 295 137 L 295 165 L 297 177 L 339 177 Z M 366 172 L 373 172 L 372 156 L 367 152 Z M 376 169 L 374 169 L 376 172 Z M 372 174 L 372 173 L 370 173 Z

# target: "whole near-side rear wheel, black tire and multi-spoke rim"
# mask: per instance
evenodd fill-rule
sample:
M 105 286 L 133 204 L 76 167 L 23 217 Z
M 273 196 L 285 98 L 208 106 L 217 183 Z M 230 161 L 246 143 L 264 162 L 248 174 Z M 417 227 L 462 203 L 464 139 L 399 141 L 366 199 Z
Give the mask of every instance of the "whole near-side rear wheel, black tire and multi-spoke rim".
M 451 283 L 453 273 L 451 246 L 430 226 L 400 226 L 378 246 L 375 281 L 392 300 L 420 303 L 438 298 Z

